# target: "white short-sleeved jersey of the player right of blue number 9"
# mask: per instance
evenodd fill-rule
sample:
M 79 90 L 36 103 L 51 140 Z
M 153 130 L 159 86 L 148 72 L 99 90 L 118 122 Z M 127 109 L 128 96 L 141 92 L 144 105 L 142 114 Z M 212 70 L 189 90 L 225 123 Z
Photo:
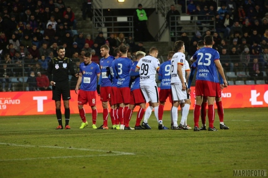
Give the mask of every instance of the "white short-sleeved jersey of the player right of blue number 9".
M 171 59 L 171 67 L 170 67 L 171 83 L 181 82 L 181 79 L 180 79 L 178 72 L 177 72 L 178 64 L 179 65 L 185 64 L 185 54 L 183 54 L 181 52 L 175 53 Z M 185 80 L 185 71 L 183 73 L 183 66 L 182 66 L 182 75 L 184 76 L 184 80 Z

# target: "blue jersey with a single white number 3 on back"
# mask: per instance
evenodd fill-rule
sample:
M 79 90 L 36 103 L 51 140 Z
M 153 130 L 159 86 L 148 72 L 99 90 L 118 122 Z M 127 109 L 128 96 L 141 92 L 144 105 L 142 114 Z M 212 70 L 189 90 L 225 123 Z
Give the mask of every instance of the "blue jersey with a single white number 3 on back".
M 115 69 L 117 72 L 117 87 L 129 87 L 130 76 L 129 71 L 132 65 L 132 61 L 127 57 L 120 57 L 115 60 Z

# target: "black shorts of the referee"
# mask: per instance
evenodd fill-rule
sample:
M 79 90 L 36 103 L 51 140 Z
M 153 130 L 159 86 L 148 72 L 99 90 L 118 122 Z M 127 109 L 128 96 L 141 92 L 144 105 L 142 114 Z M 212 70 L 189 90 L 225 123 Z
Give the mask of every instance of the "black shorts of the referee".
M 69 81 L 55 81 L 55 86 L 52 86 L 52 99 L 55 101 L 70 100 L 70 84 Z

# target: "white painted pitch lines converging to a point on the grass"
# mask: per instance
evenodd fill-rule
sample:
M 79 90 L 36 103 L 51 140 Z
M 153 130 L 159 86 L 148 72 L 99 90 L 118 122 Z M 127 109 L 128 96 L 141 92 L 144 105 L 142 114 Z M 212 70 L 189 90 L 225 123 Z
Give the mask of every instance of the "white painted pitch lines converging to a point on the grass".
M 0 145 L 19 146 L 19 147 L 33 147 L 33 148 L 40 148 L 41 147 L 41 148 L 56 148 L 56 149 L 73 149 L 73 150 L 83 150 L 83 151 L 96 151 L 96 152 L 115 153 L 115 154 L 99 154 L 99 155 L 59 156 L 59 157 L 47 157 L 47 158 L 23 158 L 23 159 L 10 159 L 10 160 L 0 160 L 0 161 L 45 160 L 45 159 L 62 159 L 62 158 L 135 155 L 135 153 L 127 153 L 127 152 L 120 152 L 120 151 L 106 151 L 106 150 L 101 150 L 101 149 L 98 150 L 98 149 L 86 149 L 86 148 L 59 147 L 59 146 L 19 145 L 19 144 L 9 144 L 9 143 L 0 143 Z

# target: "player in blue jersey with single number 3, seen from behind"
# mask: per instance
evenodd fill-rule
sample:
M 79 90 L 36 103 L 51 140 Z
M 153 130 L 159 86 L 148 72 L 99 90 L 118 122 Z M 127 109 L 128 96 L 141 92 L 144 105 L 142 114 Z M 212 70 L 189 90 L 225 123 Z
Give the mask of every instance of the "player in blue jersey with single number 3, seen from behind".
M 120 130 L 131 130 L 129 121 L 126 120 L 126 113 L 130 103 L 130 76 L 129 71 L 132 61 L 127 58 L 127 46 L 120 45 L 120 58 L 115 60 L 115 70 L 117 77 L 117 102 L 119 103 L 118 119 L 120 121 Z M 124 111 L 123 111 L 124 110 Z

